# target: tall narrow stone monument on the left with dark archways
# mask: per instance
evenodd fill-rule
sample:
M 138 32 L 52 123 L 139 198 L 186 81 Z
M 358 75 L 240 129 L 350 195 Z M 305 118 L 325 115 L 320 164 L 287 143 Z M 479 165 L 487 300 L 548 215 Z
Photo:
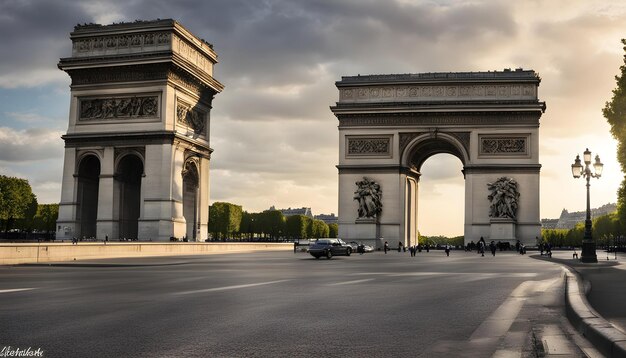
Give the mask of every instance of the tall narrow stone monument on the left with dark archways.
M 213 46 L 174 20 L 78 25 L 57 238 L 203 241 Z

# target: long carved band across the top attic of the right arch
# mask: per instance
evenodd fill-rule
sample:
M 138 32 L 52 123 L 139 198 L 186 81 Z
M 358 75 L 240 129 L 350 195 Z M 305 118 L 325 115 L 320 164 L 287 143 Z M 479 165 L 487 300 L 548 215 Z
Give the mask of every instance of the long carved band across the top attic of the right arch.
M 400 85 L 400 86 L 359 86 L 340 88 L 340 102 L 367 102 L 392 99 L 394 101 L 433 101 L 433 100 L 485 100 L 511 99 L 536 100 L 535 84 L 502 85 Z

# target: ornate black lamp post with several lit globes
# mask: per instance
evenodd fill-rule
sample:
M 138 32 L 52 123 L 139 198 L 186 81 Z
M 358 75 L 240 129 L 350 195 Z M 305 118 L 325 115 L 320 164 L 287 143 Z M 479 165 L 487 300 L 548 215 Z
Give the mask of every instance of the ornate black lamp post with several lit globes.
M 585 167 L 583 168 L 580 163 L 580 156 L 576 155 L 576 159 L 574 160 L 574 164 L 572 164 L 572 175 L 574 178 L 583 178 L 587 179 L 587 216 L 585 218 L 585 235 L 583 236 L 583 249 L 580 255 L 580 261 L 582 262 L 598 262 L 598 257 L 596 256 L 596 243 L 593 241 L 591 237 L 591 207 L 589 204 L 589 180 L 591 178 L 600 178 L 602 175 L 602 169 L 604 164 L 600 162 L 600 156 L 596 155 L 596 161 L 593 163 L 593 169 L 595 173 L 591 172 L 589 165 L 591 164 L 591 152 L 589 148 L 585 150 L 583 153 L 583 160 L 585 161 Z

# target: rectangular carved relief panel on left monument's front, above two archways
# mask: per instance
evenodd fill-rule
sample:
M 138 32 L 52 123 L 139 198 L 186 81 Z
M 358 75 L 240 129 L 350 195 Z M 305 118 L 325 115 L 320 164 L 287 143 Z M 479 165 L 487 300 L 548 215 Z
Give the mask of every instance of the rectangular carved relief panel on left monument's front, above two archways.
M 79 121 L 155 118 L 159 113 L 159 96 L 124 96 L 80 98 Z

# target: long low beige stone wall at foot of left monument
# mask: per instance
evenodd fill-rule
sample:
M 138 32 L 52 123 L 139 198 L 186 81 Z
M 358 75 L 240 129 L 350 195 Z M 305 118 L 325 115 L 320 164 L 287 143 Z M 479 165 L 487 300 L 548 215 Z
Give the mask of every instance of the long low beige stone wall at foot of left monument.
M 0 244 L 0 265 L 120 257 L 210 255 L 253 251 L 293 250 L 293 243 L 177 242 L 177 243 L 28 243 Z

